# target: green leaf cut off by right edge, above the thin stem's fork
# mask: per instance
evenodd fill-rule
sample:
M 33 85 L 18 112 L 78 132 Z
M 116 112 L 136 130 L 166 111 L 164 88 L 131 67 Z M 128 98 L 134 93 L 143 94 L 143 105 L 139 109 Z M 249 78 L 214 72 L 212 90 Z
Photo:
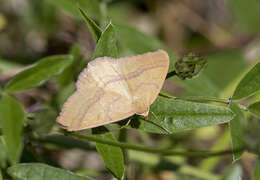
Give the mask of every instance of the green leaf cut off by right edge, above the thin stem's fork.
M 260 62 L 258 62 L 239 82 L 232 99 L 248 97 L 260 90 Z

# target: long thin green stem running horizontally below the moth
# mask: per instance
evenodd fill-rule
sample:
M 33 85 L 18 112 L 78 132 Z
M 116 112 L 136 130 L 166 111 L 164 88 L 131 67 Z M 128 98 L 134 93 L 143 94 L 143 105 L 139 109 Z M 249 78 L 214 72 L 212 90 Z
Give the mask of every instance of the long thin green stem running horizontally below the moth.
M 147 146 L 141 146 L 137 144 L 128 144 L 128 143 L 122 143 L 122 142 L 117 142 L 117 141 L 109 141 L 106 139 L 101 139 L 96 136 L 91 136 L 91 135 L 83 135 L 80 133 L 76 132 L 67 132 L 66 134 L 78 137 L 81 139 L 86 139 L 89 141 L 95 141 L 97 143 L 103 143 L 103 144 L 108 144 L 111 146 L 117 146 L 121 147 L 122 149 L 132 149 L 136 151 L 143 151 L 143 152 L 148 152 L 148 153 L 157 153 L 163 156 L 186 156 L 186 157 L 201 157 L 201 158 L 207 158 L 207 157 L 212 157 L 212 156 L 221 156 L 221 155 L 228 155 L 232 154 L 232 150 L 224 150 L 224 151 L 218 151 L 218 152 L 208 152 L 208 151 L 190 151 L 190 152 L 178 152 L 178 151 L 173 151 L 169 149 L 158 149 L 154 147 L 147 147 Z M 238 152 L 242 151 L 242 149 L 237 150 Z M 235 152 L 237 152 L 235 151 Z M 234 151 L 233 151 L 234 152 Z

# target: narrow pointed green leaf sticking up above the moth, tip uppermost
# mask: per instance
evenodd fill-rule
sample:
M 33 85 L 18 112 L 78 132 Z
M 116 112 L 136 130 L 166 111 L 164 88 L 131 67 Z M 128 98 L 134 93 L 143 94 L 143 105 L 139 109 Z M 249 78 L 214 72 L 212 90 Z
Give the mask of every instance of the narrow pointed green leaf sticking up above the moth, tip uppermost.
M 88 15 L 86 14 L 86 12 L 83 9 L 79 8 L 79 12 L 80 12 L 81 16 L 83 17 L 83 19 L 85 20 L 85 22 L 87 23 L 90 32 L 92 33 L 94 39 L 97 42 L 102 34 L 102 30 L 98 27 L 98 25 L 92 19 L 90 19 L 88 17 Z

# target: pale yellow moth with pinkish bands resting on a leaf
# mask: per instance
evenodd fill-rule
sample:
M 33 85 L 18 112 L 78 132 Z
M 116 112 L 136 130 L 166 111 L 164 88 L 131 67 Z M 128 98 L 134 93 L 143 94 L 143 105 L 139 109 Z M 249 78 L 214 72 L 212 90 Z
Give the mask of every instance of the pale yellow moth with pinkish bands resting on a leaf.
M 169 68 L 163 50 L 114 59 L 96 58 L 79 75 L 77 90 L 57 118 L 68 131 L 109 124 L 134 114 L 147 117 Z

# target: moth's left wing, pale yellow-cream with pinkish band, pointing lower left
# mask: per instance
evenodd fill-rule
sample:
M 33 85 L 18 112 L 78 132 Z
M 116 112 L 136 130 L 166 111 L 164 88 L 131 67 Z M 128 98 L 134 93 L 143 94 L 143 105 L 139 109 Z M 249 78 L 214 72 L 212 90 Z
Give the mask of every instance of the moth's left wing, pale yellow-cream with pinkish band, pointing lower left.
M 65 102 L 57 122 L 78 131 L 119 121 L 134 114 L 132 96 L 118 60 L 98 58 L 77 81 L 77 91 Z

